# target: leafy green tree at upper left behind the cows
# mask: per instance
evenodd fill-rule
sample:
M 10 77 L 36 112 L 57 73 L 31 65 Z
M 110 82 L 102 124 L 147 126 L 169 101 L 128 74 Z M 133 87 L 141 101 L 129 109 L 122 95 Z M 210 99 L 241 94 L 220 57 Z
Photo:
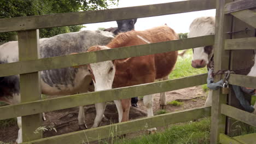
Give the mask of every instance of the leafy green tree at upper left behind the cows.
M 19 16 L 68 13 L 74 11 L 107 9 L 109 5 L 117 5 L 119 0 L 2 0 L 0 1 L 0 19 Z M 40 38 L 77 32 L 82 25 L 40 29 Z M 0 42 L 7 41 L 9 35 L 16 32 L 0 33 Z

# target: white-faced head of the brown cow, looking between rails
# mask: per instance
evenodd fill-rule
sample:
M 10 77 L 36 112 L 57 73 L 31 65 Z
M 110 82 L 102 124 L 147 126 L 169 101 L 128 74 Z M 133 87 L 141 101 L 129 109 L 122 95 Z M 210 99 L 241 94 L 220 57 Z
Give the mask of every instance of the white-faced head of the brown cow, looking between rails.
M 107 50 L 107 46 L 92 46 L 88 49 L 91 51 Z M 115 61 L 104 61 L 88 64 L 88 70 L 94 82 L 95 91 L 111 89 L 115 76 Z

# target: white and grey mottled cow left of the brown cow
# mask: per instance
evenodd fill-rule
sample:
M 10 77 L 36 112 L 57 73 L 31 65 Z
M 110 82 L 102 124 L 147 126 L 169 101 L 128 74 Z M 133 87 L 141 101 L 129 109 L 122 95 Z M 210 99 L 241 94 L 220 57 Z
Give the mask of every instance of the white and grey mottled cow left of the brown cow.
M 40 58 L 85 52 L 92 45 L 106 45 L 114 38 L 113 33 L 103 31 L 80 31 L 65 33 L 39 40 Z M 19 61 L 18 41 L 0 46 L 0 64 Z M 89 86 L 89 71 L 85 66 L 40 71 L 40 86 L 46 95 L 69 95 L 83 93 Z M 87 80 L 87 81 L 86 81 Z M 86 89 L 86 91 L 85 91 Z M 0 77 L 0 101 L 8 104 L 20 103 L 19 75 Z M 85 125 L 83 106 L 79 107 L 79 125 Z M 16 142 L 22 142 L 21 118 L 18 118 L 19 135 Z

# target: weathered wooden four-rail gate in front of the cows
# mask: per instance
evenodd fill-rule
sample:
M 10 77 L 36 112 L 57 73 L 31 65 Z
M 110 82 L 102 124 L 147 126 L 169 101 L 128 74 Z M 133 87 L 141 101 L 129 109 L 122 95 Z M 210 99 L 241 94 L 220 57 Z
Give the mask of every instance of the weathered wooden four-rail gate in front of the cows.
M 217 2 L 217 10 L 223 10 L 222 1 Z M 182 8 L 182 9 L 181 9 Z M 133 19 L 139 17 L 159 16 L 167 14 L 185 13 L 190 11 L 199 11 L 214 9 L 215 1 L 210 0 L 193 0 L 182 1 L 164 4 L 144 5 L 139 7 L 129 7 L 121 9 L 108 9 L 97 11 L 84 11 L 77 13 L 52 14 L 42 16 L 15 17 L 10 19 L 0 19 L 0 32 L 18 31 L 19 41 L 19 62 L 0 64 L 0 76 L 18 75 L 20 74 L 20 89 L 21 103 L 17 105 L 8 105 L 0 107 L 1 119 L 22 116 L 22 137 L 24 143 L 82 143 L 104 139 L 109 136 L 110 129 L 117 129 L 114 135 L 131 133 L 147 128 L 160 127 L 167 124 L 185 122 L 191 119 L 208 117 L 211 115 L 210 107 L 202 107 L 194 110 L 186 110 L 181 112 L 167 113 L 165 115 L 154 116 L 149 118 L 136 119 L 129 122 L 106 125 L 88 130 L 76 131 L 74 133 L 63 134 L 53 137 L 42 138 L 42 133 L 34 134 L 33 131 L 41 126 L 40 114 L 42 112 L 67 109 L 80 105 L 88 105 L 101 103 L 103 101 L 117 100 L 124 98 L 137 97 L 141 95 L 172 91 L 175 89 L 193 87 L 206 83 L 206 74 L 184 77 L 182 79 L 167 80 L 162 82 L 148 83 L 145 85 L 137 85 L 124 88 L 115 88 L 108 91 L 92 92 L 84 94 L 68 95 L 65 97 L 40 100 L 39 73 L 41 70 L 57 69 L 71 67 L 74 65 L 82 65 L 88 63 L 102 62 L 112 59 L 120 59 L 127 57 L 151 55 L 154 53 L 162 53 L 167 51 L 176 51 L 190 49 L 214 44 L 214 35 L 207 35 L 197 38 L 189 38 L 183 40 L 172 40 L 162 43 L 154 43 L 139 46 L 120 47 L 117 49 L 79 53 L 76 55 L 67 55 L 59 57 L 50 57 L 38 59 L 38 28 L 59 27 L 69 25 L 80 25 L 85 23 L 95 23 L 104 21 L 114 21 L 122 19 Z M 221 11 L 217 16 L 217 22 L 223 21 L 224 11 Z M 219 25 L 220 26 L 220 25 Z M 221 25 L 222 26 L 222 25 Z M 221 27 L 222 28 L 222 27 Z M 224 37 L 222 29 L 216 34 L 215 45 L 218 49 L 215 50 L 215 61 L 219 62 L 216 66 L 218 69 L 226 69 L 224 62 L 225 51 Z M 221 35 L 221 36 L 220 36 Z M 219 37 L 220 36 L 220 37 Z M 196 41 L 196 43 L 195 43 Z M 244 40 L 242 40 L 244 41 Z M 254 41 L 254 40 L 252 40 Z M 232 45 L 231 41 L 229 45 Z M 239 41 L 237 41 L 238 43 Z M 253 42 L 252 42 L 253 43 Z M 155 49 L 154 47 L 157 47 Z M 232 47 L 229 47 L 232 49 Z M 239 49 L 239 48 L 237 48 Z M 118 55 L 117 55 L 118 53 Z M 219 59 L 218 59 L 219 58 Z M 226 61 L 228 62 L 228 61 Z M 232 78 L 233 77 L 233 78 Z M 239 75 L 231 75 L 230 79 L 234 79 L 234 83 L 239 81 L 236 78 Z M 248 77 L 248 76 L 245 76 Z M 218 77 L 217 79 L 220 79 Z M 255 77 L 249 77 L 245 83 L 252 84 L 255 82 Z M 249 83 L 251 82 L 251 83 Z M 230 82 L 231 83 L 231 82 Z M 241 82 L 240 82 L 241 83 Z M 231 83 L 232 84 L 232 83 Z M 243 83 L 241 83 L 243 86 Z M 222 105 L 224 105 L 224 97 L 220 91 L 214 92 L 218 95 L 218 99 L 213 100 L 212 121 L 218 123 L 217 128 L 212 127 L 211 142 L 217 143 L 219 133 L 224 133 L 224 116 L 220 113 Z M 36 95 L 36 96 L 35 96 Z M 101 97 L 104 95 L 104 97 Z M 93 96 L 93 97 L 92 97 Z M 84 100 L 86 99 L 86 101 Z M 218 103 L 218 100 L 220 102 Z M 222 105 L 220 105 L 222 104 Z M 225 106 L 225 105 L 224 105 Z M 223 108 L 224 109 L 224 108 Z M 235 108 L 230 108 L 235 109 Z M 225 110 L 223 110 L 225 111 Z M 222 111 L 222 112 L 223 112 Z M 223 112 L 224 113 L 224 112 Z M 232 114 L 230 114 L 232 115 Z M 246 117 L 249 114 L 244 112 Z M 255 119 L 255 115 L 249 115 Z M 246 122 L 248 119 L 245 120 Z M 251 123 L 250 123 L 251 124 Z

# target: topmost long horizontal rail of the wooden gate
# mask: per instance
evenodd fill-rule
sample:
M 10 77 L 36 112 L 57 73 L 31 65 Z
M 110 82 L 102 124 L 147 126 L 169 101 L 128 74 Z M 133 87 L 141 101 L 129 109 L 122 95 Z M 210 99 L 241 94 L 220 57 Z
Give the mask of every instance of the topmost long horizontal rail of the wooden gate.
M 22 31 L 49 27 L 81 25 L 105 21 L 133 19 L 187 13 L 191 11 L 214 9 L 215 1 L 193 0 L 172 3 L 143 5 L 118 9 L 82 11 L 74 13 L 51 14 L 40 16 L 14 17 L 0 19 L 0 32 Z

